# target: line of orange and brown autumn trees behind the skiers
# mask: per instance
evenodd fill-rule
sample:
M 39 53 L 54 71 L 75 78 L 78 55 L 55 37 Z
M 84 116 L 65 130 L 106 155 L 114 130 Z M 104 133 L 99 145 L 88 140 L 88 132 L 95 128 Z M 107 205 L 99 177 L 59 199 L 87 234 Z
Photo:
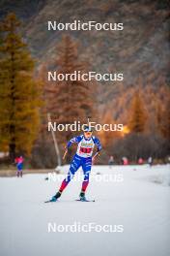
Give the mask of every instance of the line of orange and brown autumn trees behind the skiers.
M 52 121 L 61 124 L 74 120 L 86 123 L 88 118 L 101 118 L 106 123 L 123 122 L 125 130 L 122 133 L 99 132 L 103 144 L 101 164 L 109 155 L 114 155 L 118 162 L 123 156 L 131 161 L 151 155 L 162 159 L 168 156 L 170 92 L 167 85 L 164 85 L 168 95 L 166 102 L 156 105 L 154 129 L 151 126 L 147 129 L 152 124 L 153 113 L 147 112 L 142 95 L 145 87 L 138 84 L 134 85 L 130 102 L 125 107 L 127 116 L 115 117 L 111 104 L 106 106 L 106 103 L 101 112 L 97 81 L 47 80 L 49 69 L 63 74 L 89 71 L 90 63 L 79 57 L 78 43 L 70 35 L 64 35 L 56 48 L 54 61 L 38 67 L 20 34 L 20 25 L 14 14 L 0 23 L 0 151 L 9 152 L 11 163 L 21 154 L 29 159 L 32 167 L 52 168 L 58 164 L 53 138 L 47 131 L 49 114 Z M 119 99 L 124 102 L 126 97 L 123 91 Z M 77 133 L 71 131 L 56 133 L 61 153 L 74 135 Z M 70 159 L 71 151 L 67 162 Z

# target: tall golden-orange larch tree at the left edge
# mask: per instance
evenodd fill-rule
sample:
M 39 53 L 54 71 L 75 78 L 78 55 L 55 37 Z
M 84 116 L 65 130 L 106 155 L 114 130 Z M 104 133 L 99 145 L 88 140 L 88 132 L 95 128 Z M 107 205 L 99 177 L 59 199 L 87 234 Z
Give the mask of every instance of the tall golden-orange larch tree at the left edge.
M 33 79 L 34 60 L 18 33 L 14 14 L 0 24 L 0 150 L 30 154 L 39 128 L 41 88 Z

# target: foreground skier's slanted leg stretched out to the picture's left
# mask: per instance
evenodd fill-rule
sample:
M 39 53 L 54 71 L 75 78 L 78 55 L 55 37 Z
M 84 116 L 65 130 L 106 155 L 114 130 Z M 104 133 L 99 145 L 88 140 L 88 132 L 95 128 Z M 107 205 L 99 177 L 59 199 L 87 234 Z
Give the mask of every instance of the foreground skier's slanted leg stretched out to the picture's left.
M 70 171 L 68 173 L 68 176 L 63 180 L 59 191 L 55 195 L 56 198 L 59 198 L 61 196 L 63 190 L 67 187 L 67 185 L 71 181 L 71 178 L 74 176 L 75 172 L 78 170 L 80 165 L 81 165 L 81 158 L 78 157 L 77 155 L 74 155 L 74 157 L 71 161 L 71 167 L 70 167 Z

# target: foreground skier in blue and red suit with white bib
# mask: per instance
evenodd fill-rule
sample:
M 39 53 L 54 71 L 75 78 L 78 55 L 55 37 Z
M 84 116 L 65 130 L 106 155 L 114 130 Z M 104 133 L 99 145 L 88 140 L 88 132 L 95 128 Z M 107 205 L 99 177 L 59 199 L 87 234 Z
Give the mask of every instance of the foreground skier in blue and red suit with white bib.
M 95 158 L 99 155 L 99 151 L 101 150 L 101 144 L 99 143 L 99 139 L 95 136 L 92 136 L 92 130 L 89 126 L 86 126 L 84 129 L 84 135 L 80 135 L 71 139 L 71 141 L 66 146 L 66 151 L 63 156 L 65 159 L 68 149 L 70 148 L 71 144 L 77 144 L 77 150 L 75 155 L 71 160 L 70 171 L 68 176 L 63 180 L 59 191 L 52 197 L 49 202 L 56 202 L 57 199 L 62 195 L 62 192 L 67 187 L 71 178 L 74 176 L 75 172 L 82 167 L 84 180 L 82 182 L 81 192 L 79 194 L 80 201 L 87 201 L 85 197 L 86 188 L 89 184 L 89 176 L 91 172 L 92 163 L 94 163 Z M 94 146 L 97 146 L 98 151 L 92 157 Z

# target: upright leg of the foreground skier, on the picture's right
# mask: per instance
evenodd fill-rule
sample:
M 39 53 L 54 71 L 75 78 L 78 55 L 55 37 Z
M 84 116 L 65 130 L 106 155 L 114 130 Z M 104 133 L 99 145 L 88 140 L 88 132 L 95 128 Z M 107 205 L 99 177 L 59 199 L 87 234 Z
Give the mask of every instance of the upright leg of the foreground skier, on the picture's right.
M 85 197 L 85 192 L 89 184 L 89 176 L 90 176 L 91 168 L 92 168 L 92 157 L 85 158 L 82 164 L 84 180 L 82 182 L 80 198 Z

